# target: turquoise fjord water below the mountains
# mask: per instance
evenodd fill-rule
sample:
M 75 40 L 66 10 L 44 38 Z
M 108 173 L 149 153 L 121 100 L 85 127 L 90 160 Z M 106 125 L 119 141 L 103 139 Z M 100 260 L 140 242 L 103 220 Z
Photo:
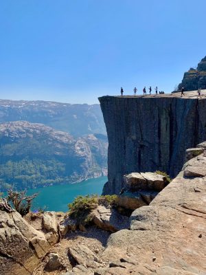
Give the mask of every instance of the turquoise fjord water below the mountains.
M 102 188 L 106 181 L 107 177 L 97 177 L 75 184 L 62 184 L 30 189 L 27 191 L 27 194 L 32 195 L 38 192 L 38 196 L 34 199 L 32 210 L 47 206 L 47 211 L 66 212 L 68 211 L 68 203 L 71 203 L 78 195 L 101 195 Z

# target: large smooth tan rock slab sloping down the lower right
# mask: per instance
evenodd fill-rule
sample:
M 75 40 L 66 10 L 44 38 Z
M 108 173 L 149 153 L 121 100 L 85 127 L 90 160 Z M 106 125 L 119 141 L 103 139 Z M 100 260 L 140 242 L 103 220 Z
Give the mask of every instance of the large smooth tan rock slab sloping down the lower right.
M 94 274 L 206 274 L 206 177 L 184 177 L 188 166 L 206 171 L 206 155 L 190 159 L 150 206 L 135 210 L 130 230 L 111 234 L 102 255 L 111 265 Z

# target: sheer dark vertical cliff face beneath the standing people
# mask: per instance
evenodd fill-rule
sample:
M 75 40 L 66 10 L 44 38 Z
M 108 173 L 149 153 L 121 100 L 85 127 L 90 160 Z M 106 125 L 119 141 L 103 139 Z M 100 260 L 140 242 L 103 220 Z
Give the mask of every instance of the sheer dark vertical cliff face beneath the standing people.
M 176 176 L 185 149 L 206 139 L 204 99 L 103 96 L 99 100 L 108 133 L 104 194 L 117 194 L 127 173 L 162 170 Z

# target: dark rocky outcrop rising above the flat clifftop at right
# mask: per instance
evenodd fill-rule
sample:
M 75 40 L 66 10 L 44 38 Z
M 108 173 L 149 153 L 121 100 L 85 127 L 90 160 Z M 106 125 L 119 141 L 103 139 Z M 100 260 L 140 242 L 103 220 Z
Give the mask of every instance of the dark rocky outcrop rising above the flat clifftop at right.
M 194 91 L 198 88 L 206 89 L 206 56 L 198 63 L 196 69 L 190 68 L 185 72 L 182 82 L 179 84 L 179 90 L 185 87 L 186 91 Z

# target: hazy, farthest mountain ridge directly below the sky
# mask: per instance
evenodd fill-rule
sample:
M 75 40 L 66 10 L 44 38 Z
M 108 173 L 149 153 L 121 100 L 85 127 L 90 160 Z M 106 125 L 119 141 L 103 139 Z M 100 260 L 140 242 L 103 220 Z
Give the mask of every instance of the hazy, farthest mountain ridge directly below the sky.
M 91 133 L 106 135 L 99 104 L 69 104 L 52 101 L 0 100 L 0 122 L 43 123 L 78 137 Z

